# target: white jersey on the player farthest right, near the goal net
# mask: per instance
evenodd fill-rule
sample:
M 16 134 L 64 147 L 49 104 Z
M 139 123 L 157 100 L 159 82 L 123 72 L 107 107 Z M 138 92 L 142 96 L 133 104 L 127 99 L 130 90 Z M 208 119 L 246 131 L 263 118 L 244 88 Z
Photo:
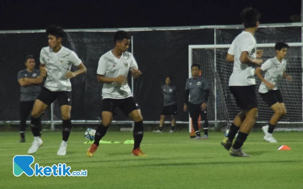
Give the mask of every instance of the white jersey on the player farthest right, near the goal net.
M 261 70 L 266 72 L 264 79 L 275 85 L 275 88 L 272 90 L 278 90 L 278 82 L 283 77 L 283 73 L 286 70 L 286 60 L 282 59 L 280 62 L 277 57 L 270 58 L 261 66 Z M 269 89 L 267 86 L 262 82 L 259 87 L 260 93 L 267 93 Z

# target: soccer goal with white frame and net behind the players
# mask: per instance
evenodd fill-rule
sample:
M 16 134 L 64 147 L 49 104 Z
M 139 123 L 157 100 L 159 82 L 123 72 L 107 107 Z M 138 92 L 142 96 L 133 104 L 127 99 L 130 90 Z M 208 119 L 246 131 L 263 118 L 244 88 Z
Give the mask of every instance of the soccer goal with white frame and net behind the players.
M 283 95 L 287 114 L 277 124 L 277 130 L 303 129 L 303 99 L 302 99 L 302 51 L 303 43 L 288 43 L 286 55 L 286 73 L 292 76 L 292 82 L 281 80 L 278 84 Z M 257 44 L 257 49 L 263 49 L 264 62 L 276 56 L 275 43 Z M 210 129 L 224 130 L 233 118 L 240 112 L 234 97 L 229 91 L 228 80 L 233 70 L 233 63 L 226 62 L 225 57 L 230 44 L 223 45 L 188 45 L 188 76 L 191 77 L 191 65 L 201 67 L 201 75 L 210 85 L 208 101 L 208 119 Z M 258 96 L 258 119 L 255 125 L 261 127 L 267 124 L 273 111 L 263 102 L 258 94 L 261 82 L 256 77 L 256 90 Z M 189 132 L 191 132 L 189 117 Z

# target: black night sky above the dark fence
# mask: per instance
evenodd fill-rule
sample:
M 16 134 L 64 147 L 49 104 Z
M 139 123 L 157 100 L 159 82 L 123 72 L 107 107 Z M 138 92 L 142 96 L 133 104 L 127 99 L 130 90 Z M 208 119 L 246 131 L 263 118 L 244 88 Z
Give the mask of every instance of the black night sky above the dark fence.
M 0 30 L 129 28 L 241 24 L 245 7 L 258 9 L 265 23 L 289 23 L 300 0 L 276 1 L 1 1 Z

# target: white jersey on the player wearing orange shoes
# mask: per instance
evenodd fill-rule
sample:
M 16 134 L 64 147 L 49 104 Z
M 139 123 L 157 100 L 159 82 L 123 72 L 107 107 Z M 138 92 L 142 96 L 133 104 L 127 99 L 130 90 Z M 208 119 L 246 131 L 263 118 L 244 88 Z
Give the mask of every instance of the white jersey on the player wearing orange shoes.
M 106 78 L 117 78 L 120 75 L 127 77 L 128 72 L 132 69 L 138 69 L 138 65 L 131 53 L 124 52 L 120 58 L 117 58 L 110 50 L 100 57 L 97 74 Z M 103 84 L 102 99 L 123 99 L 131 96 L 128 84 L 121 85 L 116 82 Z

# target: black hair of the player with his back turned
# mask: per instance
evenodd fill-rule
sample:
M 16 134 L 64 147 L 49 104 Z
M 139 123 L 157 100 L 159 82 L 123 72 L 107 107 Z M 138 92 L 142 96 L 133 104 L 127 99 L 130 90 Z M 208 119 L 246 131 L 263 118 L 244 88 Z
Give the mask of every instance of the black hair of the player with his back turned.
M 257 25 L 261 14 L 257 9 L 249 7 L 243 9 L 240 16 L 242 17 L 244 28 L 252 28 Z

